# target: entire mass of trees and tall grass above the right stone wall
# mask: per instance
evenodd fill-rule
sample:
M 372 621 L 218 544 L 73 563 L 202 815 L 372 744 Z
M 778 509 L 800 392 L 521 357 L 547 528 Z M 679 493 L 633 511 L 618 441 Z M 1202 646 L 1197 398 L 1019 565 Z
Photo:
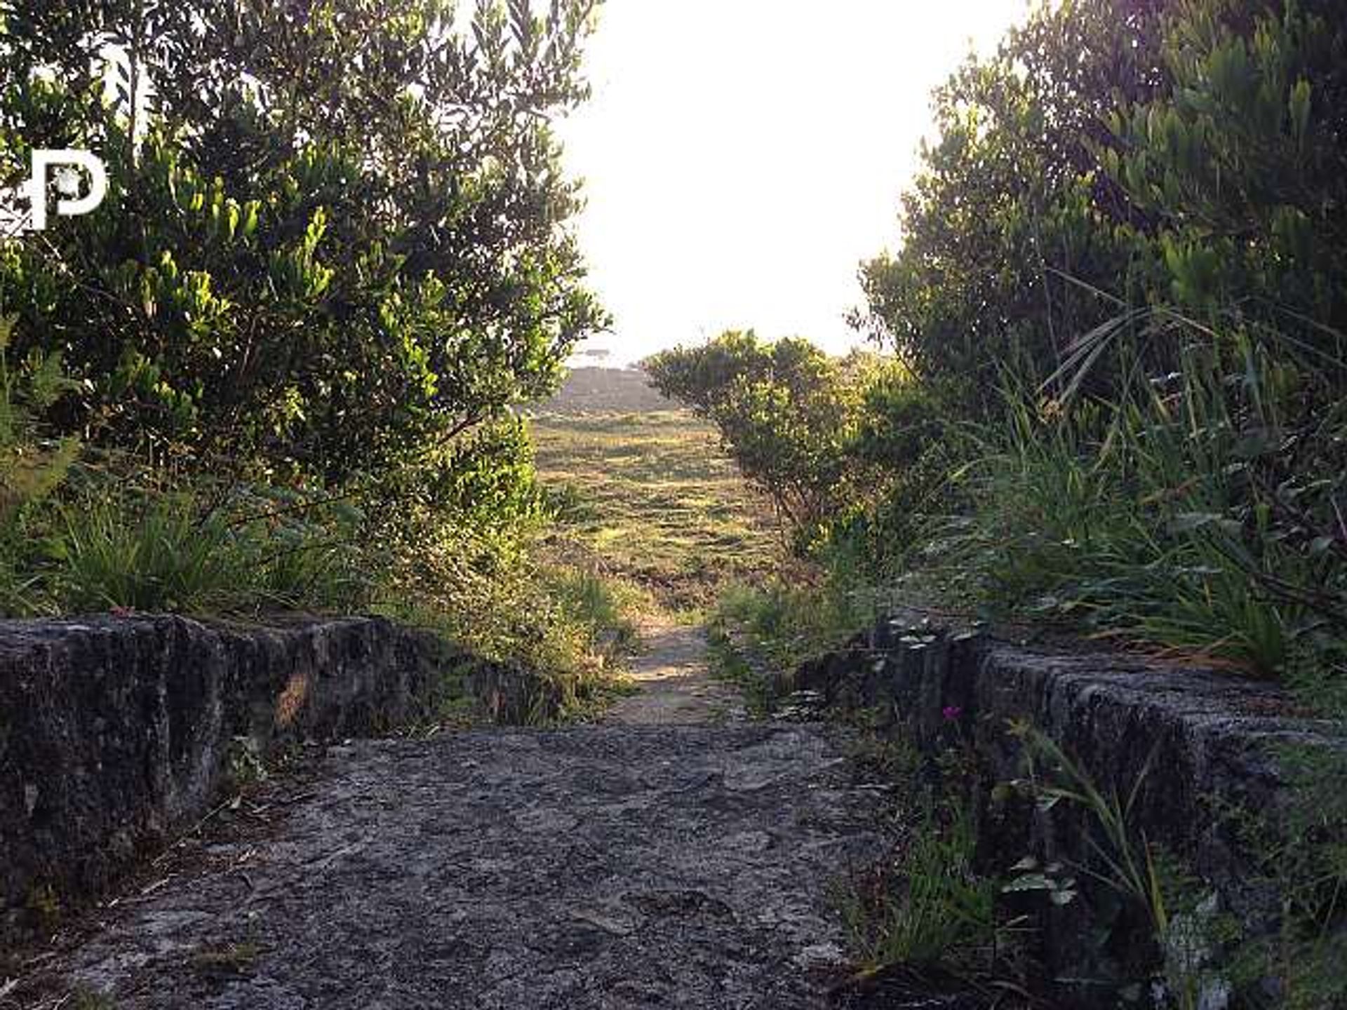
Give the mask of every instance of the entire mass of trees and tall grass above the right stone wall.
M 1082 0 L 950 79 L 857 319 L 940 448 L 884 451 L 870 531 L 942 517 L 979 606 L 1342 681 L 1344 54 L 1328 3 Z

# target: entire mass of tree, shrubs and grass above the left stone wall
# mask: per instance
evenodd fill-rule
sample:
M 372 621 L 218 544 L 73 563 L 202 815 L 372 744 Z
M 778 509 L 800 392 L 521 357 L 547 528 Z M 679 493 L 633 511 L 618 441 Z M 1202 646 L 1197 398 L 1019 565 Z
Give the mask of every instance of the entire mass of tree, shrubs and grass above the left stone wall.
M 110 183 L 0 242 L 0 607 L 415 611 L 574 694 L 610 615 L 536 580 L 512 408 L 603 321 L 552 128 L 595 7 L 0 0 L 0 186 Z

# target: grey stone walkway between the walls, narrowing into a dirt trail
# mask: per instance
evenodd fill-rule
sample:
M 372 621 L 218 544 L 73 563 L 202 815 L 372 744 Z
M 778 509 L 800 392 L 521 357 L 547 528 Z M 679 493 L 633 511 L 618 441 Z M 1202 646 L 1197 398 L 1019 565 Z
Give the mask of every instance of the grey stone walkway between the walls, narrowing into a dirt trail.
M 330 747 L 251 797 L 256 824 L 109 909 L 50 991 L 119 1010 L 827 1006 L 830 889 L 881 854 L 880 795 L 834 731 L 744 722 L 695 629 L 648 636 L 641 692 L 602 725 Z

